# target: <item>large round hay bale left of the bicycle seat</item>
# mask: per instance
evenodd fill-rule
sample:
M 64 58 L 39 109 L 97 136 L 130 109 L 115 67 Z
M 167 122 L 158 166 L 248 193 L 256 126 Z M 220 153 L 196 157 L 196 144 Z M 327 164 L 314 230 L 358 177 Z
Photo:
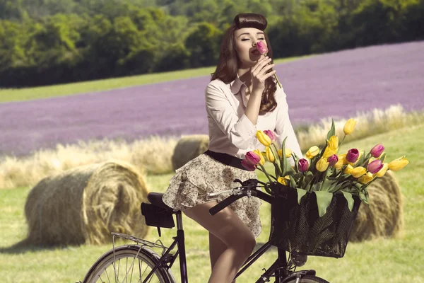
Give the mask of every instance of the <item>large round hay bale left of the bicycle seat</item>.
M 140 204 L 148 190 L 127 163 L 81 166 L 42 179 L 28 195 L 28 237 L 23 244 L 80 245 L 112 241 L 111 232 L 143 238 Z

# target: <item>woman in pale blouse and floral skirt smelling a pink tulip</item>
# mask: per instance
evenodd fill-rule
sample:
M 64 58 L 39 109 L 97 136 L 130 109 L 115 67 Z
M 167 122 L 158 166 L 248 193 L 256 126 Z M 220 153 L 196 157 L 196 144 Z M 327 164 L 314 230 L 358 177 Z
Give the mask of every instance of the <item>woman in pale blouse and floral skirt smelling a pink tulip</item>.
M 288 117 L 285 93 L 273 79 L 266 25 L 266 18 L 259 14 L 235 16 L 224 35 L 219 63 L 205 93 L 208 151 L 177 169 L 163 195 L 165 204 L 182 210 L 209 231 L 210 283 L 232 282 L 252 253 L 255 238 L 261 233 L 261 202 L 256 197 L 244 197 L 211 216 L 209 209 L 228 195 L 210 200 L 206 194 L 237 187 L 235 178 L 257 178 L 240 161 L 248 151 L 264 150 L 255 136 L 259 129 L 273 129 L 279 144 L 288 137 L 287 147 L 302 156 Z M 259 41 L 267 45 L 269 57 L 257 52 Z

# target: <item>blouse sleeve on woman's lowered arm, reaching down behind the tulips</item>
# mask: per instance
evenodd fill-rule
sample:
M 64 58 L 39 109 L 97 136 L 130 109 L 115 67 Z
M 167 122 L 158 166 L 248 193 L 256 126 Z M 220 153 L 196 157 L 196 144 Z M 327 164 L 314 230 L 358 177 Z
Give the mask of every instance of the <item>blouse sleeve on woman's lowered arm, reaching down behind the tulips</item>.
M 288 104 L 286 100 L 285 93 L 283 88 L 278 88 L 276 91 L 276 101 L 277 101 L 277 119 L 276 119 L 276 129 L 278 144 L 282 145 L 285 137 L 285 148 L 293 151 L 299 158 L 303 158 L 302 151 L 300 151 L 300 145 L 296 137 L 293 125 L 290 122 L 288 117 Z M 293 158 L 288 158 L 288 161 L 294 166 L 295 162 Z

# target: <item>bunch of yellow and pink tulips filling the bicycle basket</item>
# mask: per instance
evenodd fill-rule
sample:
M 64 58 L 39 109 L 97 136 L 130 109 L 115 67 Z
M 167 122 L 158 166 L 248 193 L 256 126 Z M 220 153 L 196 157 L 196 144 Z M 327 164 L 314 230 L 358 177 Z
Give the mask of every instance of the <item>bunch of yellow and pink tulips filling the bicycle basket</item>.
M 285 138 L 281 148 L 276 143 L 276 135 L 270 131 L 257 131 L 257 139 L 265 147 L 247 152 L 242 165 L 249 171 L 259 169 L 264 172 L 269 183 L 265 189 L 271 194 L 270 183 L 281 183 L 292 187 L 298 192 L 298 203 L 307 192 L 314 192 L 317 196 L 319 216 L 326 213 L 326 208 L 333 198 L 334 193 L 342 193 L 352 211 L 353 197 L 357 195 L 360 200 L 368 203 L 367 186 L 377 178 L 382 177 L 388 170 L 399 171 L 408 164 L 405 156 L 397 158 L 390 163 L 385 162 L 386 152 L 382 144 L 374 146 L 365 154 L 358 149 L 349 149 L 346 153 L 339 154 L 338 149 L 343 144 L 348 134 L 353 132 L 356 122 L 349 119 L 343 127 L 343 139 L 340 144 L 335 134 L 334 121 L 326 137 L 326 144 L 319 148 L 312 146 L 306 153 L 306 158 L 299 158 L 290 149 L 285 148 Z M 284 151 L 283 151 L 284 149 Z M 294 166 L 288 162 L 293 157 Z M 275 175 L 266 172 L 264 163 L 269 161 L 275 168 Z

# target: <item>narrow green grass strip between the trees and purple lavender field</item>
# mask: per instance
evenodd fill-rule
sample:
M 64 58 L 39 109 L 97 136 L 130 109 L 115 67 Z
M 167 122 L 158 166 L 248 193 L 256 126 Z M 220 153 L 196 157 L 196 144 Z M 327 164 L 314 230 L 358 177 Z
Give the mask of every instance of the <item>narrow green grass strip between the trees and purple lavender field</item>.
M 290 57 L 275 59 L 275 64 L 303 59 L 313 55 L 302 57 Z M 114 79 L 102 79 L 98 81 L 83 81 L 79 83 L 66 83 L 54 86 L 40 86 L 35 88 L 0 88 L 0 103 L 9 101 L 24 101 L 55 96 L 69 96 L 76 93 L 90 93 L 94 91 L 107 91 L 113 88 L 125 88 L 128 86 L 140 86 L 143 84 L 161 83 L 178 79 L 189 79 L 196 76 L 207 76 L 215 71 L 215 66 L 199 69 L 187 69 L 182 71 L 167 71 L 158 74 L 143 74 L 139 76 L 126 76 Z

